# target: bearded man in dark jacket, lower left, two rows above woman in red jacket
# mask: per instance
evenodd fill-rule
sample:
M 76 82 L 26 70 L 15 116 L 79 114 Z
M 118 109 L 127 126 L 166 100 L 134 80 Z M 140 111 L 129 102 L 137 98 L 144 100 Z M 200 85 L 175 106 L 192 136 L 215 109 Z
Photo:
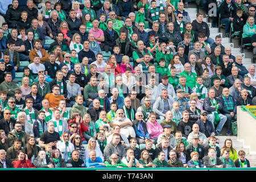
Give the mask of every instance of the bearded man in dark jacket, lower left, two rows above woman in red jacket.
M 17 138 L 21 139 L 21 146 L 24 147 L 27 144 L 27 134 L 26 132 L 22 131 L 22 124 L 21 122 L 16 122 L 14 125 L 14 130 L 10 131 L 7 136 L 7 141 L 9 143 L 9 147 L 13 146 L 15 139 Z

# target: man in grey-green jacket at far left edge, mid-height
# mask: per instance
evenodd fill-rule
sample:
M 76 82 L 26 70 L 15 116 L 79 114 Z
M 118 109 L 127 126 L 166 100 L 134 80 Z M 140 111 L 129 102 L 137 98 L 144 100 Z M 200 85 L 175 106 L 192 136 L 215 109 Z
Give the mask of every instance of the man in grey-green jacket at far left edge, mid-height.
M 19 86 L 12 81 L 11 73 L 5 73 L 5 81 L 0 84 L 0 91 L 7 91 L 7 98 L 14 97 L 14 92 L 19 89 Z

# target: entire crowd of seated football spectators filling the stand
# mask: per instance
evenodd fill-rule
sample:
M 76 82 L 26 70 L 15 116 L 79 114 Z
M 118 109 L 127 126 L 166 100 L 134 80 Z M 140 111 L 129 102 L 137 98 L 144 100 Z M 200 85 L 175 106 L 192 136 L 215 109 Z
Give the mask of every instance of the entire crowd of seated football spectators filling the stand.
M 228 136 L 237 106 L 256 104 L 255 67 L 210 37 L 202 13 L 162 0 L 1 3 L 0 167 L 250 167 Z M 256 46 L 256 5 L 240 5 L 222 1 L 221 23 L 227 33 L 245 11 L 242 42 Z

